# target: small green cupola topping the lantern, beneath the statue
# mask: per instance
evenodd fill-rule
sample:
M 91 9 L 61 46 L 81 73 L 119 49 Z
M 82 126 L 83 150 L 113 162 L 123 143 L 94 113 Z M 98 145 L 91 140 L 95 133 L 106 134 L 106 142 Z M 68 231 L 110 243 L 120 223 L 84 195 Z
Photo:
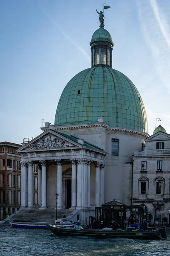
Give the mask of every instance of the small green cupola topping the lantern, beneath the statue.
M 100 27 L 99 29 L 97 29 L 92 35 L 91 43 L 95 41 L 109 41 L 113 44 L 111 34 L 103 27 Z

